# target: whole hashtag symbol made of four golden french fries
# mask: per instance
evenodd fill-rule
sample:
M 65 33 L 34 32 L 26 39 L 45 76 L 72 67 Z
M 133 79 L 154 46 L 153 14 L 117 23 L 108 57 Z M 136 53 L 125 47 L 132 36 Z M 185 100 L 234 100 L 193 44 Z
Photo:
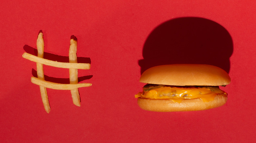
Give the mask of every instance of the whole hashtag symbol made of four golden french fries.
M 57 62 L 48 59 L 44 59 L 44 38 L 43 33 L 39 33 L 36 41 L 37 46 L 37 56 L 31 55 L 29 53 L 24 53 L 22 57 L 36 62 L 36 71 L 37 78 L 31 77 L 31 82 L 33 84 L 39 85 L 41 97 L 44 105 L 44 109 L 47 113 L 50 112 L 51 107 L 48 100 L 48 94 L 46 88 L 58 89 L 58 90 L 70 90 L 73 103 L 76 106 L 81 106 L 80 104 L 80 95 L 78 88 L 79 87 L 90 87 L 92 84 L 90 83 L 78 83 L 78 69 L 88 70 L 91 67 L 89 63 L 77 63 L 77 41 L 74 39 L 70 40 L 69 47 L 69 63 Z M 66 68 L 69 69 L 69 80 L 70 84 L 60 84 L 54 83 L 50 81 L 45 81 L 44 79 L 44 70 L 43 65 L 48 65 L 57 68 Z

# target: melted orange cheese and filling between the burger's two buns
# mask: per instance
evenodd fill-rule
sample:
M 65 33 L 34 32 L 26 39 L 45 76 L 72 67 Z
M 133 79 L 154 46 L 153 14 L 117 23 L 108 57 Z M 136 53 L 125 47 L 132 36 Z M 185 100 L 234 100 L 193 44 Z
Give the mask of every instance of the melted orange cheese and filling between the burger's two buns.
M 167 99 L 173 102 L 181 103 L 184 99 L 201 99 L 203 102 L 214 100 L 218 94 L 226 94 L 218 86 L 211 87 L 174 87 L 164 85 L 144 86 L 143 91 L 135 95 L 135 98 L 145 99 Z

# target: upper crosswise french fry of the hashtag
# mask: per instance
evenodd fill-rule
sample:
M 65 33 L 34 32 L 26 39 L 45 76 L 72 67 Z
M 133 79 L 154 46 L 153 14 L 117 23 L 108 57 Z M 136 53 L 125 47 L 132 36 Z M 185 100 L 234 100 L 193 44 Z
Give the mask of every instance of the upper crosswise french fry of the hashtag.
M 89 70 L 91 68 L 91 64 L 89 63 L 64 63 L 64 62 L 57 62 L 48 59 L 44 59 L 41 57 L 37 57 L 31 55 L 29 53 L 23 53 L 22 57 L 25 59 L 31 60 L 36 63 L 44 64 L 47 66 L 57 67 L 57 68 L 65 68 L 65 69 L 82 69 L 82 70 Z

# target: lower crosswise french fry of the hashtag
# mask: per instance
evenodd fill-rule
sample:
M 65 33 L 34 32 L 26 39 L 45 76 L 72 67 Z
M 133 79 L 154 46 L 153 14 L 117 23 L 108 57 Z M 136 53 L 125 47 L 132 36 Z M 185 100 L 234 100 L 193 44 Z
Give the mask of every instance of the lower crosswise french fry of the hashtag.
M 38 86 L 43 86 L 46 88 L 56 89 L 56 90 L 72 90 L 75 88 L 80 87 L 90 87 L 92 86 L 91 83 L 80 83 L 80 84 L 60 84 L 60 83 L 54 83 L 50 81 L 45 81 L 36 77 L 31 77 L 31 82 L 33 84 L 36 84 Z

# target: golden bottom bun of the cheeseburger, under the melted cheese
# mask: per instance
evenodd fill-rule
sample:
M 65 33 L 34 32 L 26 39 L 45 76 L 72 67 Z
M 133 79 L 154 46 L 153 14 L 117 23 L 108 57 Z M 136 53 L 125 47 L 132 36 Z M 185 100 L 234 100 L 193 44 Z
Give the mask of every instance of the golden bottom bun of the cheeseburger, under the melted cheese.
M 227 95 L 219 94 L 213 101 L 203 102 L 201 99 L 184 99 L 181 103 L 172 100 L 138 98 L 141 109 L 155 112 L 199 111 L 220 107 L 227 102 Z

